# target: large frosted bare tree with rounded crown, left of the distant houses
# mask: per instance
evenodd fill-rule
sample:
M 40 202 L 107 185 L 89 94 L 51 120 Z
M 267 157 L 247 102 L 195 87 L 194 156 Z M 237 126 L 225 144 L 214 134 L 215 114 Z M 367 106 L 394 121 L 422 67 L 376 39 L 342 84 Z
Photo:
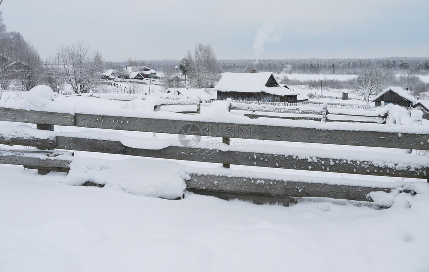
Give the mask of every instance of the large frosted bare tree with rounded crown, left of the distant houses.
M 100 85 L 101 54 L 91 50 L 87 43 L 77 40 L 74 44 L 59 46 L 57 54 L 61 66 L 59 82 L 70 84 L 75 93 L 88 92 Z

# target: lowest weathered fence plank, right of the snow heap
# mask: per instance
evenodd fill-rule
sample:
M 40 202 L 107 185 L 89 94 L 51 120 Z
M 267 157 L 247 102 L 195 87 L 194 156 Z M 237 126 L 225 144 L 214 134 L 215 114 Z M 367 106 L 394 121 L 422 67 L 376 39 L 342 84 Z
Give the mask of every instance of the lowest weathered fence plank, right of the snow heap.
M 191 178 L 186 181 L 186 186 L 191 190 L 244 195 L 291 198 L 326 197 L 356 201 L 372 201 L 371 198 L 367 197 L 369 193 L 376 191 L 392 191 L 392 188 L 333 185 L 249 177 L 198 175 L 193 173 L 190 173 L 190 176 Z

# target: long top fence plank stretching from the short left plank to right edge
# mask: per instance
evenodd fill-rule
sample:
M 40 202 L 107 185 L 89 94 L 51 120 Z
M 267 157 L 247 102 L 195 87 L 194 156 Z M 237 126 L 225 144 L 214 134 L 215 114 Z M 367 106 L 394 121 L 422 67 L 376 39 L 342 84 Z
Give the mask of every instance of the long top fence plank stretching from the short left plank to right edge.
M 75 125 L 80 127 L 170 134 L 182 134 L 181 128 L 190 124 L 198 126 L 202 136 L 429 150 L 428 134 L 331 130 L 91 114 L 76 114 L 75 116 Z

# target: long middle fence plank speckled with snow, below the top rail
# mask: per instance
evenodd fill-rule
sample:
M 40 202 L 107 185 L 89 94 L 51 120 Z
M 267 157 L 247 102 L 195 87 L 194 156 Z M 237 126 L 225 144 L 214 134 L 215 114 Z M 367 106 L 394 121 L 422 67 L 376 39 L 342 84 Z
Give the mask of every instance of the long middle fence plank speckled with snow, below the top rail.
M 37 139 L 31 139 L 34 145 L 38 144 Z M 169 146 L 163 149 L 141 149 L 132 148 L 123 145 L 120 141 L 76 138 L 69 136 L 57 136 L 52 140 L 45 140 L 44 144 L 53 142 L 57 149 L 101 152 L 110 154 L 133 155 L 150 158 L 201 161 L 221 164 L 235 164 L 247 166 L 259 166 L 270 168 L 284 168 L 307 171 L 321 172 L 337 172 L 337 173 L 352 173 L 361 175 L 373 176 L 397 176 L 405 178 L 421 178 L 427 179 L 428 166 L 402 166 L 400 169 L 396 167 L 380 167 L 374 165 L 370 161 L 355 161 L 344 160 L 335 157 L 297 157 L 294 155 L 269 154 L 260 152 L 245 152 L 245 151 L 221 151 L 218 149 L 203 149 L 184 146 Z M 10 142 L 2 141 L 0 136 L 0 144 Z M 48 141 L 48 142 L 47 142 Z M 19 145 L 27 145 L 25 139 L 12 139 L 12 142 Z M 405 156 L 405 155 L 404 155 Z M 404 164 L 404 162 L 402 162 Z

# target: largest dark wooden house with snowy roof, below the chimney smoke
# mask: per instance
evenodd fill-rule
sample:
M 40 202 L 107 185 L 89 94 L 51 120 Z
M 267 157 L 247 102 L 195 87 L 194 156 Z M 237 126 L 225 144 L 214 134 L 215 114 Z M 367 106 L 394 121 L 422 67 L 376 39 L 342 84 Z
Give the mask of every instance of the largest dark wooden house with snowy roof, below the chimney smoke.
M 272 72 L 224 73 L 214 86 L 217 99 L 296 103 L 297 93 L 281 86 Z

